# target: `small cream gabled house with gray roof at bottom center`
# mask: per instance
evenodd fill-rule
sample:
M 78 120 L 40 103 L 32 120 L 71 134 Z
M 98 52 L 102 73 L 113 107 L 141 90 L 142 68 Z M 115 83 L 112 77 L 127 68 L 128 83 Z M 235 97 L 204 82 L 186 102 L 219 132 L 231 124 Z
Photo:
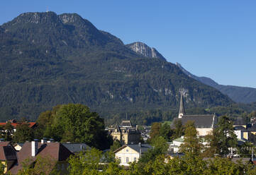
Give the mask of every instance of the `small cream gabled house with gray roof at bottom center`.
M 129 166 L 129 162 L 138 162 L 138 159 L 147 152 L 152 146 L 148 144 L 123 145 L 114 151 L 116 159 L 120 165 Z

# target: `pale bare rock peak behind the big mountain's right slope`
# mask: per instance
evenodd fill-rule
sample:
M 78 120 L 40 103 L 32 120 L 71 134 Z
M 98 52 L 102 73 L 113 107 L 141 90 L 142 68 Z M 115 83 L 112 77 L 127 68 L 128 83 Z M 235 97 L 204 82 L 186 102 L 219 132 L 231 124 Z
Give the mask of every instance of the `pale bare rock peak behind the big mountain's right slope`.
M 133 42 L 131 44 L 127 44 L 126 46 L 132 49 L 134 52 L 142 54 L 145 57 L 157 58 L 166 61 L 165 57 L 162 56 L 162 54 L 160 54 L 159 52 L 157 52 L 157 49 L 151 48 L 143 42 Z

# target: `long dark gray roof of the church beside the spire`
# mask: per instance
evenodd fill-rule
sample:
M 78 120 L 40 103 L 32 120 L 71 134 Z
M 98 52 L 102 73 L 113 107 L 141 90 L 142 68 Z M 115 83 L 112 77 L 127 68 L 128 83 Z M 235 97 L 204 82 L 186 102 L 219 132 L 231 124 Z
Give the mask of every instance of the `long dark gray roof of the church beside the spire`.
M 194 126 L 196 126 L 196 128 L 214 128 L 217 123 L 215 114 L 184 115 L 182 116 L 182 119 L 176 118 L 174 120 L 181 120 L 182 125 L 185 125 L 188 121 L 194 121 Z

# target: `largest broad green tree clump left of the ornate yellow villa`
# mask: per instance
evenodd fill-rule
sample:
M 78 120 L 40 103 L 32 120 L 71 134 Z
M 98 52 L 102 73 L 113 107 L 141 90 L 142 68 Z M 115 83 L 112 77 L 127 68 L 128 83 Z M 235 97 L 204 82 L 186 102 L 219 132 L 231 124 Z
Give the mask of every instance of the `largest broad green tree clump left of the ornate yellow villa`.
M 104 119 L 82 104 L 57 106 L 53 111 L 43 113 L 39 124 L 45 128 L 45 137 L 53 137 L 60 142 L 87 143 L 101 149 L 109 147 L 111 143 L 105 131 Z

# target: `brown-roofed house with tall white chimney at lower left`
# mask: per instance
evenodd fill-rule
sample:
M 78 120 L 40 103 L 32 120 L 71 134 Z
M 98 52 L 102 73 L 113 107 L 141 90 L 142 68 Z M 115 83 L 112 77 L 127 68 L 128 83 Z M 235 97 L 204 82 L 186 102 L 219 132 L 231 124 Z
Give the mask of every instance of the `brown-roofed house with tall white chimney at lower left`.
M 46 143 L 45 140 L 41 140 L 40 143 L 38 143 L 38 140 L 26 142 L 21 150 L 16 153 L 16 163 L 9 171 L 11 174 L 18 174 L 18 171 L 23 169 L 23 162 L 26 161 L 28 164 L 35 165 L 37 159 L 42 157 L 51 162 L 49 169 L 45 169 L 46 174 L 49 174 L 52 169 L 59 170 L 60 174 L 67 174 L 67 158 L 70 155 L 74 155 L 74 153 L 70 152 L 61 143 Z

